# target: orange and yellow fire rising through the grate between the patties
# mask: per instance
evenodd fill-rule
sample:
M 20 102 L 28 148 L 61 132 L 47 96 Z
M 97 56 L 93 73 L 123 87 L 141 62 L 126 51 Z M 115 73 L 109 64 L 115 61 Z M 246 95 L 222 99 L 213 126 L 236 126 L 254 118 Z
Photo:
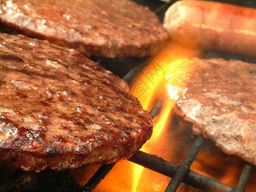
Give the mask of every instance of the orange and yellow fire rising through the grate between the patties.
M 176 99 L 186 91 L 185 84 L 194 68 L 185 66 L 180 59 L 192 58 L 200 54 L 200 51 L 167 44 L 130 83 L 132 94 L 148 111 L 164 97 L 160 114 L 154 119 L 153 135 L 143 145 L 142 151 L 163 157 L 171 163 L 182 163 L 192 144 L 191 130 L 178 129 L 178 123 L 175 118 L 172 118 L 172 109 Z M 210 147 L 202 147 L 191 170 L 235 187 L 242 169 L 239 166 L 241 159 L 232 156 L 224 158 L 219 148 L 210 141 L 205 146 Z M 253 176 L 255 174 L 253 173 Z M 234 175 L 237 176 L 234 177 Z M 130 161 L 121 161 L 115 164 L 95 191 L 164 191 L 170 180 L 169 177 L 130 163 Z M 253 177 L 250 183 L 246 189 L 255 189 Z M 191 188 L 181 185 L 178 191 L 191 191 Z

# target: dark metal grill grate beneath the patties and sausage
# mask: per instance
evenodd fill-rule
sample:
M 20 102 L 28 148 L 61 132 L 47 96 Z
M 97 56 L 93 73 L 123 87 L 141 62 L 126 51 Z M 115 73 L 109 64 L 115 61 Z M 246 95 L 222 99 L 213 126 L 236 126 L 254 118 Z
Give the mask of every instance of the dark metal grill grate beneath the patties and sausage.
M 158 8 L 154 8 L 154 10 L 158 14 L 160 19 L 163 18 L 164 11 L 166 10 L 166 8 L 174 2 L 175 1 L 170 1 L 170 3 L 157 3 Z M 225 2 L 241 4 L 244 6 L 255 6 L 255 3 L 253 3 L 253 1 L 237 0 Z M 146 63 L 147 62 L 144 62 L 142 65 L 139 65 L 138 67 L 133 68 L 133 70 L 130 70 L 130 72 L 128 72 L 128 74 L 123 79 L 125 81 L 130 81 L 130 79 L 132 79 L 135 76 L 138 70 L 144 68 Z M 158 115 L 161 104 L 162 102 L 158 102 L 158 104 L 153 109 L 151 109 L 150 113 L 153 118 Z M 251 164 L 244 163 L 243 171 L 241 172 L 240 179 L 238 180 L 237 186 L 235 188 L 232 186 L 228 186 L 222 182 L 219 182 L 218 180 L 205 177 L 200 173 L 192 172 L 190 170 L 191 164 L 194 161 L 194 158 L 197 156 L 198 152 L 200 151 L 200 147 L 203 144 L 203 142 L 203 137 L 198 136 L 198 138 L 196 138 L 196 140 L 192 144 L 190 150 L 187 152 L 187 156 L 180 165 L 170 163 L 169 161 L 166 161 L 161 157 L 152 154 L 147 154 L 141 151 L 138 151 L 135 154 L 133 154 L 133 156 L 130 157 L 128 161 L 140 164 L 145 168 L 166 175 L 167 177 L 173 178 L 166 188 L 166 191 L 168 192 L 176 191 L 181 182 L 184 182 L 185 184 L 188 184 L 190 186 L 194 186 L 195 188 L 202 189 L 204 191 L 244 191 L 253 169 L 253 166 Z M 99 170 L 92 176 L 89 182 L 87 182 L 87 184 L 85 184 L 85 186 L 83 186 L 79 190 L 93 191 L 101 182 L 101 180 L 103 180 L 105 176 L 112 170 L 114 165 L 115 163 L 101 166 Z M 17 182 L 19 182 L 22 179 L 22 177 L 24 177 L 26 174 L 26 172 L 17 170 L 17 172 L 13 173 L 12 177 L 8 178 L 7 180 L 4 180 L 4 182 L 0 184 L 0 191 L 8 191 L 13 186 L 15 186 L 15 184 L 17 184 Z

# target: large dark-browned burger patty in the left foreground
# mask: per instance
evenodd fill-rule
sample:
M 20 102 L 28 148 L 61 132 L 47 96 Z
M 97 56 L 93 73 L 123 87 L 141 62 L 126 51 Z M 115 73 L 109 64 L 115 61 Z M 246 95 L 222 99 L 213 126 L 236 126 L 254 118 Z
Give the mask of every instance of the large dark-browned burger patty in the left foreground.
M 0 161 L 65 170 L 128 158 L 152 120 L 119 77 L 73 49 L 0 33 Z

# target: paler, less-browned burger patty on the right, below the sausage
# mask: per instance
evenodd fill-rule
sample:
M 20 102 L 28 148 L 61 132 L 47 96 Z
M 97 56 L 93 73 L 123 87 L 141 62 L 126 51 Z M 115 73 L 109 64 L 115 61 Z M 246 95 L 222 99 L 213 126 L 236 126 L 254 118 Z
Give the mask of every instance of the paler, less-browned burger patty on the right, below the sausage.
M 226 154 L 256 165 L 256 65 L 238 60 L 183 60 L 194 73 L 176 102 L 180 120 Z

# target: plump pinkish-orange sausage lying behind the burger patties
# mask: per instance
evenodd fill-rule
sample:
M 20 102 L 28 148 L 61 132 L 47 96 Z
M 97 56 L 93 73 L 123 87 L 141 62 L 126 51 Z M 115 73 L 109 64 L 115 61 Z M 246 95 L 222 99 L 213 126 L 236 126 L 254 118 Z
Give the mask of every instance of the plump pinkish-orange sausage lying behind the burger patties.
M 256 57 L 256 9 L 212 1 L 177 1 L 164 17 L 171 39 L 186 47 Z

